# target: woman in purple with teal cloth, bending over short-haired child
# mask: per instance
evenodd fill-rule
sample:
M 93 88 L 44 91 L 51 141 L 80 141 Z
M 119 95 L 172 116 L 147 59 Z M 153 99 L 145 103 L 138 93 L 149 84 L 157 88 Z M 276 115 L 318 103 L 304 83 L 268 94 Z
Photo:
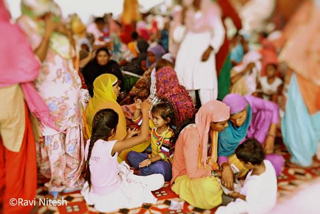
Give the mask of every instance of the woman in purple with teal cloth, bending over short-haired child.
M 233 173 L 229 159 L 237 146 L 248 138 L 255 138 L 263 144 L 264 152 L 274 166 L 277 176 L 284 166 L 281 155 L 273 153 L 276 125 L 279 119 L 278 106 L 254 96 L 228 94 L 223 101 L 230 106 L 230 121 L 218 139 L 218 163 L 222 168 L 222 184 L 233 189 Z M 237 166 L 237 171 L 245 171 L 244 166 Z M 239 174 L 241 176 L 242 173 Z

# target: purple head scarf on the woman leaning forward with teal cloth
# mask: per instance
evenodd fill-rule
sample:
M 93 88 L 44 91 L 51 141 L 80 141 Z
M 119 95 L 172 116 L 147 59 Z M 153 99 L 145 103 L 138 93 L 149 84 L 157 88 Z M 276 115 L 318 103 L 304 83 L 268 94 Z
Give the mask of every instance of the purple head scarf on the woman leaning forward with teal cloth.
M 230 114 L 236 114 L 246 109 L 248 101 L 237 93 L 230 93 L 222 100 L 227 106 L 230 107 Z

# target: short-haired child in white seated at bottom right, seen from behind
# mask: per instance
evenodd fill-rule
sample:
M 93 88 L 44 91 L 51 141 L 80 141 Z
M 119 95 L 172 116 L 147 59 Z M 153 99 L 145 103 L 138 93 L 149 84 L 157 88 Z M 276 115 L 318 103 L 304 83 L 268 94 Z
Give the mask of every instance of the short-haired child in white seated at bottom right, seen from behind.
M 236 200 L 227 206 L 219 207 L 215 213 L 269 213 L 276 203 L 277 181 L 272 164 L 264 160 L 261 144 L 255 139 L 248 139 L 238 146 L 235 153 L 250 171 L 241 191 L 229 194 Z

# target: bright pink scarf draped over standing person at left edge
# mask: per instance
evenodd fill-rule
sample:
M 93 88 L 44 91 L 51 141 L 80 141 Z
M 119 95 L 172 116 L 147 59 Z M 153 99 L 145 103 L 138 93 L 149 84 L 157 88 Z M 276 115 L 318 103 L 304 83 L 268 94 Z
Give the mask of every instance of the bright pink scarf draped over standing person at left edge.
M 10 13 L 4 0 L 0 0 L 0 87 L 21 84 L 26 103 L 31 113 L 45 125 L 57 130 L 50 110 L 35 90 L 32 81 L 36 79 L 41 64 L 34 57 L 30 42 L 24 32 L 10 24 Z

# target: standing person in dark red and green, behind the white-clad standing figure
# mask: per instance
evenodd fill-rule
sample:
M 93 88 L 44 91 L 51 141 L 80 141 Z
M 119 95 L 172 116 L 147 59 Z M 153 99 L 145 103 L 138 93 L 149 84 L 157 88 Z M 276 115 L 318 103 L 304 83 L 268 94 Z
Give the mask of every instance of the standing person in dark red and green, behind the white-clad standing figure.
M 233 24 L 237 30 L 242 28 L 241 19 L 239 18 L 236 10 L 232 7 L 229 0 L 218 0 L 222 10 L 222 21 L 223 24 L 226 18 L 231 18 Z M 224 24 L 224 29 L 226 31 L 226 26 Z M 230 51 L 229 51 L 229 40 L 228 35 L 225 33 L 224 43 L 219 49 L 219 52 L 215 55 L 216 70 L 218 76 L 218 100 L 222 100 L 225 95 L 229 93 L 230 88 L 230 70 L 232 68 Z

